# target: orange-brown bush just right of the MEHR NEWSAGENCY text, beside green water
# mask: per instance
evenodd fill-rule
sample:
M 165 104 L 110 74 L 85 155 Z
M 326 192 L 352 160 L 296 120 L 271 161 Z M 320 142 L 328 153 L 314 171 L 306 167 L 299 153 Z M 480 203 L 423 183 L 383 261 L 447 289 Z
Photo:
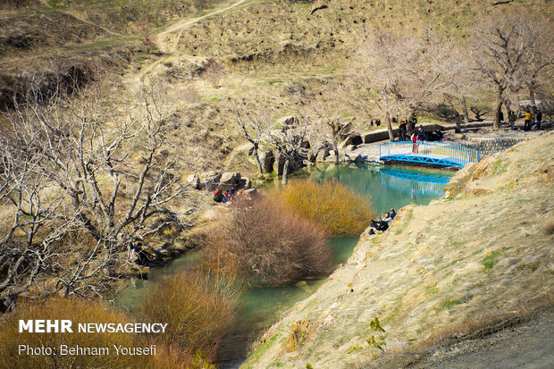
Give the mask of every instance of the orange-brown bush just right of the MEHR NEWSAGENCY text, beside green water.
M 180 347 L 188 356 L 199 350 L 212 360 L 232 328 L 239 296 L 233 281 L 222 275 L 183 270 L 157 283 L 142 312 L 148 321 L 168 323 L 168 333 L 159 340 Z

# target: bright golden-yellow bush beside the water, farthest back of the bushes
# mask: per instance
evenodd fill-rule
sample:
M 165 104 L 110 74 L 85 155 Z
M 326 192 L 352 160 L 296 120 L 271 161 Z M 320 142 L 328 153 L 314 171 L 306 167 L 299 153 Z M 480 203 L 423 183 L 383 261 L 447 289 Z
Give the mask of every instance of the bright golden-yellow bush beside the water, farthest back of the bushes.
M 374 218 L 369 200 L 336 180 L 291 183 L 282 189 L 281 201 L 295 213 L 322 224 L 333 236 L 358 235 Z

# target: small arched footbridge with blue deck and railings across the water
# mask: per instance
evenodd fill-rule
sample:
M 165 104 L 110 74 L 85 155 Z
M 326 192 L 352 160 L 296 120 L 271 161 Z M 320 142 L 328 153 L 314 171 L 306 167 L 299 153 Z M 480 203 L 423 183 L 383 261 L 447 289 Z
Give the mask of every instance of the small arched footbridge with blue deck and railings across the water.
M 479 152 L 473 148 L 442 142 L 390 142 L 379 146 L 381 160 L 463 167 L 479 162 Z

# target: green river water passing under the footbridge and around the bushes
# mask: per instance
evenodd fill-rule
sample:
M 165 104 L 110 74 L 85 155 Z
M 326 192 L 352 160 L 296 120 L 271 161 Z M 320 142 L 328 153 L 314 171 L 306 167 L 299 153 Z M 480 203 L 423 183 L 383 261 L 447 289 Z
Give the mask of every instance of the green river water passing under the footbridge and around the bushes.
M 290 180 L 339 180 L 362 196 L 371 197 L 374 212 L 383 214 L 390 208 L 398 210 L 408 204 L 428 205 L 432 199 L 442 196 L 442 190 L 452 175 L 454 172 L 413 167 L 322 164 L 295 172 Z M 279 183 L 275 180 L 268 187 L 278 188 Z M 348 260 L 357 241 L 358 237 L 330 239 L 335 266 Z M 122 293 L 119 305 L 132 309 L 139 298 L 152 289 L 156 280 L 196 264 L 197 258 L 197 252 L 189 252 L 171 264 L 151 270 L 148 281 L 134 281 L 133 286 Z M 277 288 L 249 289 L 241 298 L 234 330 L 222 342 L 222 363 L 217 367 L 238 367 L 246 358 L 250 343 L 279 320 L 287 309 L 314 293 L 325 279 L 300 281 Z

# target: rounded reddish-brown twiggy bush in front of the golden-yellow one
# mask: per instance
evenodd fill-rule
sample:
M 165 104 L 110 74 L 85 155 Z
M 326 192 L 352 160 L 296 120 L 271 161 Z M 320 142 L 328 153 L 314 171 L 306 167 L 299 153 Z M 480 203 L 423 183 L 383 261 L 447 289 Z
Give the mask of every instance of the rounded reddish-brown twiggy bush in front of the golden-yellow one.
M 274 197 L 238 200 L 206 240 L 206 263 L 252 284 L 281 285 L 328 272 L 331 249 L 323 227 Z

